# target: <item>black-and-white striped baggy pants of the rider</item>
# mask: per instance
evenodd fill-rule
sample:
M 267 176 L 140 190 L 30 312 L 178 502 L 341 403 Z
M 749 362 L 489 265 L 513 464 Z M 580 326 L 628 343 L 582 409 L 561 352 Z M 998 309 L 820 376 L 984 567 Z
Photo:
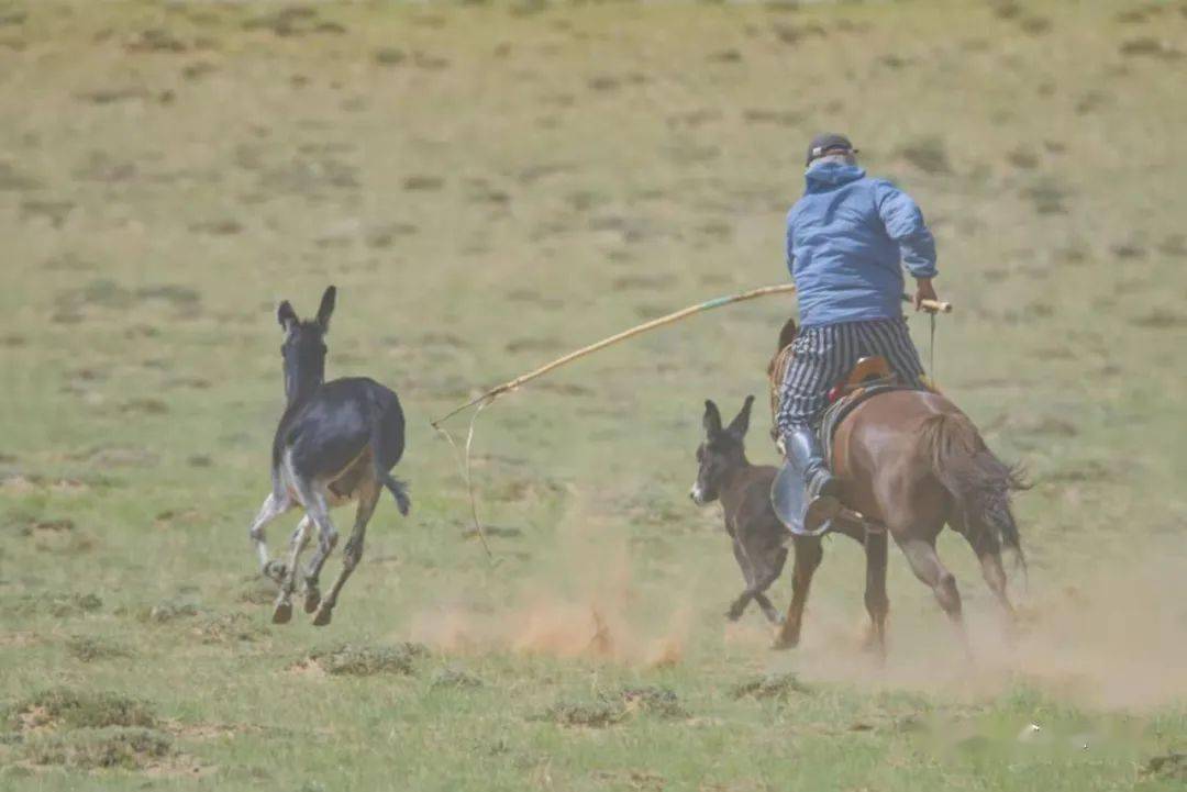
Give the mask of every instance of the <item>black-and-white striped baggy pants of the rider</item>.
M 922 385 L 923 366 L 901 317 L 801 327 L 792 350 L 776 415 L 780 437 L 792 427 L 814 428 L 829 391 L 863 357 L 881 355 L 903 384 Z

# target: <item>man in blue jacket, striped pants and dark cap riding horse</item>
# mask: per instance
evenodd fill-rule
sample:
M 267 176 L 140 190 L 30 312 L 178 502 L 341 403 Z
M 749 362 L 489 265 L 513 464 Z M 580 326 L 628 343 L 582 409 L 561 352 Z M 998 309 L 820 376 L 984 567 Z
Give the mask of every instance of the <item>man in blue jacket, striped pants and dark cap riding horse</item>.
M 907 193 L 857 166 L 844 135 L 808 146 L 807 186 L 787 213 L 787 267 L 795 281 L 800 330 L 783 378 L 776 430 L 789 467 L 802 478 L 795 532 L 817 534 L 840 510 L 840 483 L 817 436 L 829 391 L 863 357 L 881 356 L 906 385 L 922 387 L 923 366 L 902 315 L 902 267 L 915 279 L 915 309 L 935 300 L 935 241 Z M 794 484 L 793 484 L 794 486 Z M 798 523 L 798 524 L 796 524 Z

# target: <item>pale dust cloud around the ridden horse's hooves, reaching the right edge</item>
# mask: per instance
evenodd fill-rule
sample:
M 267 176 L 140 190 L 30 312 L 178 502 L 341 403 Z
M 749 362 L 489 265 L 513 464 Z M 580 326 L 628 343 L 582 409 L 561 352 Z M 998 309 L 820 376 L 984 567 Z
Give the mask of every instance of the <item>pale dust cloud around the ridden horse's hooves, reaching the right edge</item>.
M 805 678 L 969 700 L 1027 685 L 1106 709 L 1187 702 L 1185 569 L 1181 549 L 1147 548 L 1138 557 L 1110 555 L 1074 582 L 1043 586 L 1042 573 L 1033 573 L 1030 592 L 1013 594 L 1018 609 L 1013 625 L 988 596 L 969 607 L 967 593 L 983 583 L 961 579 L 971 659 L 938 606 L 896 614 L 891 605 L 888 656 L 880 664 L 862 649 L 865 620 L 858 618 L 859 601 L 820 598 L 810 605 L 801 647 L 794 656 L 775 657 L 770 665 Z M 897 583 L 900 589 L 916 585 Z M 895 595 L 891 588 L 891 602 Z M 758 649 L 768 644 L 769 634 L 754 626 L 736 627 L 728 640 Z

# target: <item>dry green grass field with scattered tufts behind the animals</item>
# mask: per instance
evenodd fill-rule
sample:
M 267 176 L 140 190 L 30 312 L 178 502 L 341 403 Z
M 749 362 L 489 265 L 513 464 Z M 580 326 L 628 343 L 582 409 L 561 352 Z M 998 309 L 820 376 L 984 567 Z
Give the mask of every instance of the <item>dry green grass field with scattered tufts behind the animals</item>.
M 1183 2 L 0 0 L 0 788 L 1182 788 L 1185 56 Z M 941 537 L 975 666 L 895 550 L 863 654 L 844 539 L 800 649 L 724 619 L 703 400 L 764 405 L 791 300 L 483 413 L 494 563 L 429 426 L 786 280 L 826 128 L 923 206 L 937 378 L 1035 481 L 1013 641 Z M 400 394 L 414 505 L 330 627 L 277 627 L 275 305 L 331 282 L 330 376 Z

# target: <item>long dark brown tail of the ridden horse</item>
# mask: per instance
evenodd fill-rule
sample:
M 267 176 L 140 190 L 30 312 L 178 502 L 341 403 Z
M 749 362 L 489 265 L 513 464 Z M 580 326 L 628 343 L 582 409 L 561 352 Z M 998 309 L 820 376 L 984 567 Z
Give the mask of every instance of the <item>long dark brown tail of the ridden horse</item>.
M 1026 573 L 1018 525 L 1010 511 L 1010 492 L 1029 487 L 1022 471 L 997 459 L 963 413 L 927 419 L 923 442 L 932 456 L 932 471 L 956 502 L 973 545 L 979 550 L 982 542 L 996 539 L 1014 551 Z

